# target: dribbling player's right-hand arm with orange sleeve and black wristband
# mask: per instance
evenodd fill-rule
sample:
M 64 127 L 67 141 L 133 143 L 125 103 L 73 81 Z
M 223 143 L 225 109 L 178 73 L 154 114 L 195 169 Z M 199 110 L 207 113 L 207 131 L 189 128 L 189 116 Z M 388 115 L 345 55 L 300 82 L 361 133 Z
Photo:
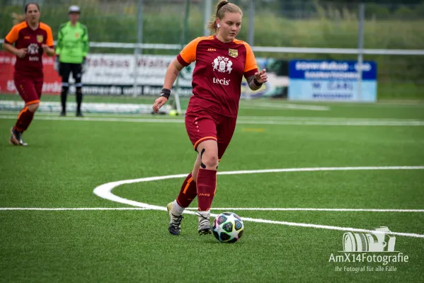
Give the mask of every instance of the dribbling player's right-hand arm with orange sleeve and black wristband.
M 246 47 L 246 62 L 244 64 L 244 77 L 247 80 L 249 88 L 252 91 L 257 91 L 262 87 L 263 83 L 268 81 L 268 75 L 266 74 L 266 69 L 258 71 L 258 65 L 256 64 L 255 55 L 253 54 L 252 48 L 246 42 L 244 43 Z

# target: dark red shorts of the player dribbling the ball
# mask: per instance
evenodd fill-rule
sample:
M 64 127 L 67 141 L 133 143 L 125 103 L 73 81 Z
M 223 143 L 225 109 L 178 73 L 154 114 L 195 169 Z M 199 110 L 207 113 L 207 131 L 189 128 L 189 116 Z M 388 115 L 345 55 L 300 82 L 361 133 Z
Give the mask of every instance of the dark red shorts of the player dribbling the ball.
M 207 112 L 185 115 L 185 129 L 195 150 L 202 141 L 213 139 L 218 142 L 218 158 L 224 155 L 236 129 L 234 117 L 211 115 Z

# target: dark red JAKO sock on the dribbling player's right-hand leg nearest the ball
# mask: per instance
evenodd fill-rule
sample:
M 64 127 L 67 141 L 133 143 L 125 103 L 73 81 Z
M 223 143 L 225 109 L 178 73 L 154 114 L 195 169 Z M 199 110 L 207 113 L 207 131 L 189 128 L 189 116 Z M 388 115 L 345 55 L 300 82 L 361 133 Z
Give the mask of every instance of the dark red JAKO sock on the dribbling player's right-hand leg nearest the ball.
M 210 209 L 217 189 L 217 171 L 199 169 L 197 173 L 197 201 L 200 212 Z

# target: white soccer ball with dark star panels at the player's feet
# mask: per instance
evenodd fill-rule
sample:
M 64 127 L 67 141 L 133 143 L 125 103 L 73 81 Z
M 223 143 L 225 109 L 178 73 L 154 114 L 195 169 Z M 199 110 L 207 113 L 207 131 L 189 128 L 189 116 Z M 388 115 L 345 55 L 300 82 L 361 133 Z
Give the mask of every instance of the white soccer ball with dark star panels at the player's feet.
M 234 212 L 223 212 L 214 219 L 212 232 L 221 243 L 236 243 L 243 235 L 244 224 Z

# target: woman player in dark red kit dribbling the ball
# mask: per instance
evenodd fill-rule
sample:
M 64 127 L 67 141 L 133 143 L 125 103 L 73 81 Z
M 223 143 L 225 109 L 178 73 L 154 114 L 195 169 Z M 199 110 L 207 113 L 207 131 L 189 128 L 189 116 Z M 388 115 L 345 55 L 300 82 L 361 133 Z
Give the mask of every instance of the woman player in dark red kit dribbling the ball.
M 236 35 L 241 28 L 243 13 L 239 6 L 219 1 L 215 20 L 208 28 L 212 36 L 197 37 L 178 54 L 166 71 L 161 96 L 153 105 L 155 112 L 171 94 L 176 77 L 183 67 L 196 62 L 193 71 L 193 96 L 185 114 L 185 128 L 197 159 L 193 171 L 185 178 L 180 194 L 169 203 L 168 231 L 179 235 L 181 215 L 197 195 L 200 235 L 211 233 L 210 207 L 217 185 L 217 168 L 236 127 L 241 95 L 241 80 L 245 76 L 252 90 L 268 80 L 265 69 L 258 71 L 251 47 Z

